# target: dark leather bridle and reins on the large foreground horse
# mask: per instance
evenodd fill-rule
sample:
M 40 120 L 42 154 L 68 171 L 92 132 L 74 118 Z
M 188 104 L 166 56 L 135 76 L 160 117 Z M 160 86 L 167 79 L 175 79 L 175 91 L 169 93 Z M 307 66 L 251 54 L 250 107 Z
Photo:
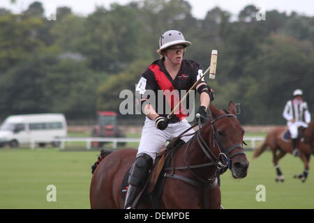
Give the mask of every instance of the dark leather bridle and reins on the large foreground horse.
M 221 143 L 218 134 L 216 132 L 216 128 L 215 128 L 215 123 L 220 120 L 221 118 L 225 118 L 225 117 L 235 117 L 237 118 L 237 116 L 235 116 L 234 114 L 223 114 L 221 116 L 218 116 L 217 118 L 214 118 L 213 120 L 211 120 L 211 145 L 207 145 L 206 141 L 204 140 L 204 138 L 202 137 L 200 130 L 197 130 L 196 132 L 194 132 L 193 134 L 195 134 L 190 141 L 188 141 L 188 145 L 186 146 L 186 151 L 184 152 L 184 163 L 186 164 L 185 167 L 168 167 L 165 168 L 165 171 L 172 171 L 172 173 L 170 174 L 163 174 L 164 177 L 167 178 L 175 178 L 178 180 L 182 180 L 186 183 L 189 183 L 191 185 L 194 185 L 196 187 L 204 187 L 204 194 L 205 197 L 207 197 L 207 193 L 208 193 L 208 189 L 215 187 L 217 185 L 217 176 L 220 174 L 223 174 L 223 172 L 225 172 L 229 167 L 230 167 L 230 159 L 232 157 L 235 157 L 237 155 L 245 155 L 244 153 L 244 148 L 242 146 L 242 144 L 233 144 L 232 146 L 230 146 L 227 149 L 224 149 L 223 144 Z M 201 126 L 200 123 L 200 119 L 199 119 L 199 126 Z M 191 128 L 195 127 L 195 125 L 191 126 Z M 200 128 L 201 129 L 201 128 Z M 190 128 L 188 129 L 190 130 Z M 183 134 L 185 132 L 188 132 L 188 130 L 184 131 Z M 182 137 L 183 135 L 180 134 L 179 137 Z M 187 162 L 187 156 L 186 154 L 188 154 L 188 150 L 190 148 L 190 143 L 192 141 L 192 139 L 196 137 L 197 138 L 197 143 L 199 144 L 200 148 L 202 148 L 202 151 L 204 153 L 204 155 L 206 155 L 206 157 L 209 159 L 210 162 L 207 162 L 205 164 L 197 164 L 197 165 L 189 165 Z M 216 156 L 214 154 L 213 151 L 211 151 L 211 148 L 213 148 L 214 146 L 218 147 L 218 151 L 219 154 L 218 156 Z M 234 151 L 236 148 L 241 148 L 240 151 L 237 151 L 235 153 L 232 153 L 232 151 Z M 173 149 L 173 151 L 175 151 L 175 148 Z M 172 154 L 173 155 L 173 154 Z M 212 176 L 209 179 L 204 180 L 204 178 L 201 178 L 200 176 L 198 176 L 195 171 L 193 171 L 193 169 L 197 169 L 197 168 L 202 168 L 202 167 L 209 167 L 209 166 L 215 166 L 217 167 L 216 172 L 214 174 L 214 176 Z M 193 176 L 195 176 L 195 178 L 197 178 L 196 180 L 192 180 L 190 178 L 186 178 L 184 176 L 180 176 L 178 174 L 174 174 L 174 170 L 190 170 L 190 172 L 193 174 Z M 207 207 L 208 206 L 208 201 L 207 199 L 204 199 L 204 206 Z

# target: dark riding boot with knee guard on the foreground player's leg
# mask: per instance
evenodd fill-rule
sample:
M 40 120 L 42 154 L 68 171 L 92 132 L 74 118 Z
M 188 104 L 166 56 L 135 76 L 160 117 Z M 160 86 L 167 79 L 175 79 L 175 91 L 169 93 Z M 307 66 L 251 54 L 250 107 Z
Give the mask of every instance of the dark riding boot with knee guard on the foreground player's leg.
M 137 154 L 137 158 L 130 169 L 130 176 L 128 177 L 129 186 L 124 203 L 125 209 L 135 208 L 132 204 L 139 192 L 144 190 L 143 186 L 149 177 L 149 171 L 152 166 L 153 159 L 149 155 L 146 153 Z

